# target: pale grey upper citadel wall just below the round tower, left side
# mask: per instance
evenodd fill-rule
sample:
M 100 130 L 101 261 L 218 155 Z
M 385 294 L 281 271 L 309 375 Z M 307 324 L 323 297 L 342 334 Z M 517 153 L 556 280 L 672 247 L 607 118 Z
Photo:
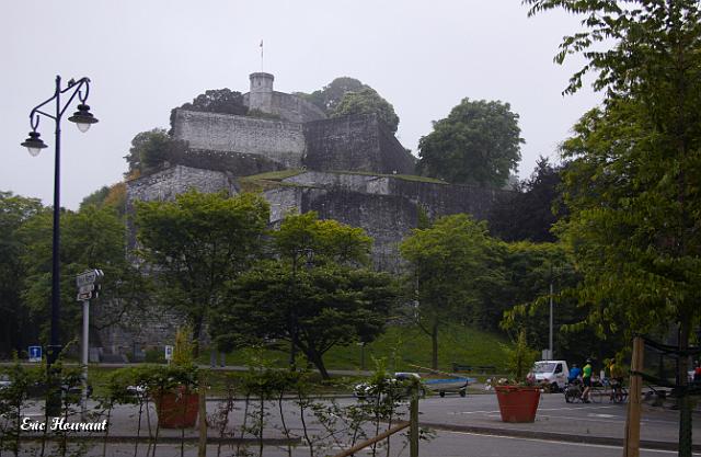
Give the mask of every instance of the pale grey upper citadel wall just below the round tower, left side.
M 177 110 L 173 133 L 193 149 L 264 156 L 285 168 L 301 167 L 304 155 L 301 124 L 286 121 Z

